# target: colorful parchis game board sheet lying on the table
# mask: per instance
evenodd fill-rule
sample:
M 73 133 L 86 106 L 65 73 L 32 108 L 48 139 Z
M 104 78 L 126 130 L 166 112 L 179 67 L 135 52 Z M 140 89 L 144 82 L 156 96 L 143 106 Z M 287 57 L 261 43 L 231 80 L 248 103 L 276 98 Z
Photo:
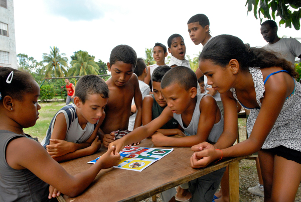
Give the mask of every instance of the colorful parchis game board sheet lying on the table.
M 126 146 L 119 152 L 121 161 L 117 166 L 114 166 L 114 168 L 141 172 L 152 163 L 171 153 L 173 150 L 174 149 Z M 88 163 L 94 164 L 98 159 L 99 157 L 93 161 L 89 161 Z

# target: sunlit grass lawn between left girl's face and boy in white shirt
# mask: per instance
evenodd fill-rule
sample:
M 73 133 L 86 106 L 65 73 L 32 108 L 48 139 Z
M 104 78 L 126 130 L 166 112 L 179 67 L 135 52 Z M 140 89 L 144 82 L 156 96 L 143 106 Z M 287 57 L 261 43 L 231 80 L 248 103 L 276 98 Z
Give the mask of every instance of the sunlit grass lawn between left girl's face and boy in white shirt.
M 49 127 L 51 119 L 63 106 L 65 106 L 65 103 L 39 103 L 39 105 L 42 107 L 42 109 L 39 110 L 40 115 L 36 125 L 31 128 L 24 129 L 24 133 L 27 133 L 33 137 L 37 137 L 39 142 L 42 142 L 46 136 L 46 131 Z

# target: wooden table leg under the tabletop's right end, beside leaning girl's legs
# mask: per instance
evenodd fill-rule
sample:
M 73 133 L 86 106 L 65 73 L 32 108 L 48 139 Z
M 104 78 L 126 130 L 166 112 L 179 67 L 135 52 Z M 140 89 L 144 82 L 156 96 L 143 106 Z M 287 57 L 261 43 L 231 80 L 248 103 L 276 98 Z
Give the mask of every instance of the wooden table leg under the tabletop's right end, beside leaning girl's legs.
M 238 161 L 229 165 L 230 202 L 239 202 L 239 170 Z

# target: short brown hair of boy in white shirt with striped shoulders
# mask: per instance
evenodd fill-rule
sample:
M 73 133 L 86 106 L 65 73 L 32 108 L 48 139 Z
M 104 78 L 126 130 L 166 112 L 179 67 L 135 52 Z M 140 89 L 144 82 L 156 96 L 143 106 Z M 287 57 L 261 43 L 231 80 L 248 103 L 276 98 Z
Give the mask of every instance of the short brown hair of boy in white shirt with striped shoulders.
M 109 97 L 108 85 L 102 78 L 96 75 L 85 75 L 81 77 L 75 87 L 75 96 L 79 97 L 84 104 L 88 94 L 98 93 L 102 98 Z

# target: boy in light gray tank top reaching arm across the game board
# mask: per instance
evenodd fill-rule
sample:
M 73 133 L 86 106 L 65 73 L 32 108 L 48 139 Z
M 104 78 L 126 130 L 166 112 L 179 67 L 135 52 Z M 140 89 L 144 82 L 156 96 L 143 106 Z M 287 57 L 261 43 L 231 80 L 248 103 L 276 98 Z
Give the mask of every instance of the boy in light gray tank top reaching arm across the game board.
M 156 132 L 152 141 L 156 147 L 191 147 L 204 141 L 216 142 L 223 132 L 223 118 L 211 95 L 197 94 L 195 73 L 183 66 L 169 70 L 161 81 L 161 90 L 168 107 L 162 114 L 145 126 L 136 128 L 127 136 L 109 145 L 119 152 L 124 146 L 140 141 L 155 133 L 172 118 L 175 118 L 190 136 L 168 137 Z M 189 161 L 189 159 L 187 159 Z M 211 201 L 219 186 L 225 168 L 191 181 L 190 201 Z

